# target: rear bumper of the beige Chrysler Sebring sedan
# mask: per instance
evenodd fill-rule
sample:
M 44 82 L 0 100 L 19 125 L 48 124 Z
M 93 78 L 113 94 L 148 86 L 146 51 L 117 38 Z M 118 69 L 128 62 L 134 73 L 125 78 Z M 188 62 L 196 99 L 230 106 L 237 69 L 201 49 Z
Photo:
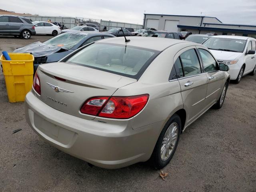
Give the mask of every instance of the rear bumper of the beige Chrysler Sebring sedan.
M 30 127 L 52 146 L 102 168 L 148 160 L 165 123 L 133 130 L 133 119 L 113 124 L 85 120 L 55 110 L 32 91 L 26 95 L 25 114 Z

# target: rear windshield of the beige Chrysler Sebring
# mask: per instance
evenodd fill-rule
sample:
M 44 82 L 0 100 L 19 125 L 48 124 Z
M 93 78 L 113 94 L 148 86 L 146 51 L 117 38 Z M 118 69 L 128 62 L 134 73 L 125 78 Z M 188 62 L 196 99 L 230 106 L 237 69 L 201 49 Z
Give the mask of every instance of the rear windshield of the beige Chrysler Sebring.
M 133 46 L 94 43 L 66 62 L 138 79 L 158 53 Z

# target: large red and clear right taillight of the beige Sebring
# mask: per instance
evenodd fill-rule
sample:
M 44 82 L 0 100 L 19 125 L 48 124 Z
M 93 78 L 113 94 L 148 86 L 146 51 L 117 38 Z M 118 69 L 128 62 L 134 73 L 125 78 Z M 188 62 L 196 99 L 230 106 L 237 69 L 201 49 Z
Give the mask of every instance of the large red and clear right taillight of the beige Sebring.
M 148 102 L 148 94 L 136 96 L 95 97 L 87 100 L 81 112 L 106 118 L 126 119 L 138 114 Z

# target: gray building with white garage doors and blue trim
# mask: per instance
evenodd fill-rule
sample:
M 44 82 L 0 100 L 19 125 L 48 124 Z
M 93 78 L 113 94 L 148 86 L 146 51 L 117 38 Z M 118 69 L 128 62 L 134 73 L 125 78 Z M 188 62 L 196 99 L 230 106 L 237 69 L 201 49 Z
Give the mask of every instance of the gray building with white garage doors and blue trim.
M 216 33 L 256 37 L 256 26 L 224 24 L 216 17 L 144 14 L 143 28 L 168 31 L 190 31 L 192 34 Z

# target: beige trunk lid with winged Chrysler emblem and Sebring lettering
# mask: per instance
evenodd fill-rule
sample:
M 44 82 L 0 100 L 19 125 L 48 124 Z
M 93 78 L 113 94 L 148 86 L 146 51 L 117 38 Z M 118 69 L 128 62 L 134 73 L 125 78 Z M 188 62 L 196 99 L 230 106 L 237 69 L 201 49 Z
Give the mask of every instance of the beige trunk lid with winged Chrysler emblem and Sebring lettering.
M 56 110 L 87 120 L 95 118 L 80 112 L 88 98 L 111 96 L 118 88 L 136 82 L 133 78 L 64 62 L 40 65 L 37 73 L 40 100 Z

